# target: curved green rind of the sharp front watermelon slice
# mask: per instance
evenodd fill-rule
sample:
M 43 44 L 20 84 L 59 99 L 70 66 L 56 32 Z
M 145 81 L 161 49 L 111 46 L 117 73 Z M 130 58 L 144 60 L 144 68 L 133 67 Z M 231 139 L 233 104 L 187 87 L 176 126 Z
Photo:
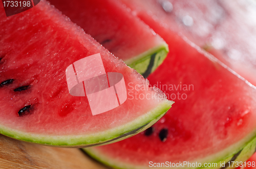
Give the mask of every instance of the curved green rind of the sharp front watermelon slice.
M 122 140 L 126 137 L 137 134 L 138 131 L 145 130 L 156 123 L 167 110 L 172 107 L 173 102 L 168 100 L 161 101 L 154 109 L 148 111 L 144 115 L 136 118 L 135 120 L 126 123 L 122 126 L 118 126 L 113 129 L 94 133 L 90 135 L 65 135 L 65 136 L 50 136 L 42 134 L 27 133 L 23 131 L 14 130 L 0 125 L 0 133 L 18 140 L 24 140 L 26 142 L 32 142 L 37 144 L 44 144 L 46 146 L 53 147 L 67 147 L 67 148 L 82 148 L 99 146 L 109 143 L 114 143 Z M 138 130 L 139 129 L 139 130 Z M 136 133 L 125 135 L 135 130 Z M 122 136 L 123 135 L 123 136 Z M 121 136 L 118 139 L 117 137 Z M 114 139 L 112 141 L 112 139 Z

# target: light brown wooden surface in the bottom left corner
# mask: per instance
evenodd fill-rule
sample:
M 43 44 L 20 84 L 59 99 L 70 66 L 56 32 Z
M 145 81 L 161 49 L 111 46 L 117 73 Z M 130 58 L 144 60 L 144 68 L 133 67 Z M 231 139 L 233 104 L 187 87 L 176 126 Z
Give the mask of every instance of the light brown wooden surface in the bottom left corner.
M 79 149 L 41 146 L 1 134 L 0 168 L 107 169 Z

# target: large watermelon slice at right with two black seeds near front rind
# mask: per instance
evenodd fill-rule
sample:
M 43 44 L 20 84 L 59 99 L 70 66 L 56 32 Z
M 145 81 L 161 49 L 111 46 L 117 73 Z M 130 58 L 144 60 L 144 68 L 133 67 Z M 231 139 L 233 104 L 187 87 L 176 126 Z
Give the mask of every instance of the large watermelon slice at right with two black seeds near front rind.
M 138 15 L 169 46 L 148 79 L 176 106 L 145 132 L 84 150 L 114 168 L 226 168 L 247 160 L 256 147 L 255 87 L 151 15 Z

